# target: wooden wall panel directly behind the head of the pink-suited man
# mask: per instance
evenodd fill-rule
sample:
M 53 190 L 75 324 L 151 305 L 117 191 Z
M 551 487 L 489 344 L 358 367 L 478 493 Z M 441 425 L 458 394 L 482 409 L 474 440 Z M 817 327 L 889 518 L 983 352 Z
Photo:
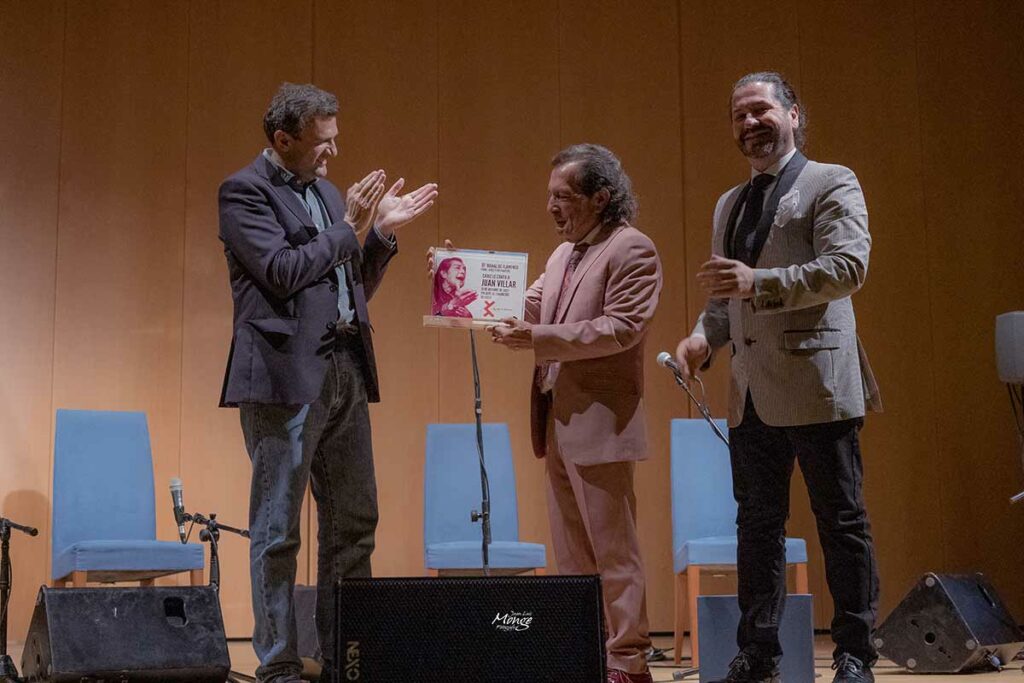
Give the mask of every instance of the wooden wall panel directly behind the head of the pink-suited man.
M 629 3 L 595 7 L 580 0 L 563 3 L 559 16 L 561 144 L 594 141 L 620 156 L 640 201 L 636 226 L 654 241 L 664 268 L 645 347 L 649 459 L 635 475 L 643 492 L 637 516 L 644 565 L 648 583 L 656 586 L 673 573 L 672 544 L 666 543 L 672 538 L 672 516 L 666 514 L 671 509 L 669 420 L 685 414 L 685 394 L 654 362 L 658 351 L 675 351 L 687 324 L 678 8 L 674 2 L 651 2 L 638 15 Z M 609 44 L 611 35 L 616 38 Z M 595 74 L 601 75 L 602 87 L 594 87 Z M 671 600 L 650 600 L 647 611 L 652 624 L 672 624 Z

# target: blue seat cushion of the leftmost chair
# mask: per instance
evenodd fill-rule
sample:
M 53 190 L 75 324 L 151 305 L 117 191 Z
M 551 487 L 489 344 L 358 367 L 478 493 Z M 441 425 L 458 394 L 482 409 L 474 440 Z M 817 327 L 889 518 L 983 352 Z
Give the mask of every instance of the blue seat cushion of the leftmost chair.
M 202 569 L 203 546 L 173 541 L 80 541 L 53 556 L 53 579 L 72 571 L 188 571 Z

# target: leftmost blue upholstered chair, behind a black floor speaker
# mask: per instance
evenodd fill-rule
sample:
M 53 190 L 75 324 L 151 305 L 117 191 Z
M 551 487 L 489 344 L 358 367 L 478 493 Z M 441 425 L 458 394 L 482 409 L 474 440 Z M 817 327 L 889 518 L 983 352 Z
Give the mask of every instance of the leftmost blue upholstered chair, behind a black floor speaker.
M 203 546 L 157 541 L 155 504 L 144 413 L 57 411 L 54 585 L 152 585 L 178 571 L 190 572 L 194 586 L 203 583 Z

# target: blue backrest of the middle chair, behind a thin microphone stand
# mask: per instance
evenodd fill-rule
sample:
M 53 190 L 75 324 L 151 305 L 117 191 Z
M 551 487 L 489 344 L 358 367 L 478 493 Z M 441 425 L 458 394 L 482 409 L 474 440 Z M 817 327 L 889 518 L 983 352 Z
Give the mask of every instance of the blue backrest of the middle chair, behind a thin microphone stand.
M 483 458 L 490 482 L 490 540 L 518 541 L 519 510 L 508 425 L 483 425 Z M 471 510 L 480 510 L 479 463 L 475 424 L 427 425 L 424 544 L 482 539 L 480 523 L 469 518 Z

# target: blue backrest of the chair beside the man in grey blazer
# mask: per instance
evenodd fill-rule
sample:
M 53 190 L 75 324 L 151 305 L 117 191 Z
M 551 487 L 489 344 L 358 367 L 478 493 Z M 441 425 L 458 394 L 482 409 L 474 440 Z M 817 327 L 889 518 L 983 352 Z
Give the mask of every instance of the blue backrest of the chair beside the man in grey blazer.
M 728 435 L 725 420 L 715 424 Z M 672 548 L 736 535 L 729 450 L 703 420 L 672 421 Z

